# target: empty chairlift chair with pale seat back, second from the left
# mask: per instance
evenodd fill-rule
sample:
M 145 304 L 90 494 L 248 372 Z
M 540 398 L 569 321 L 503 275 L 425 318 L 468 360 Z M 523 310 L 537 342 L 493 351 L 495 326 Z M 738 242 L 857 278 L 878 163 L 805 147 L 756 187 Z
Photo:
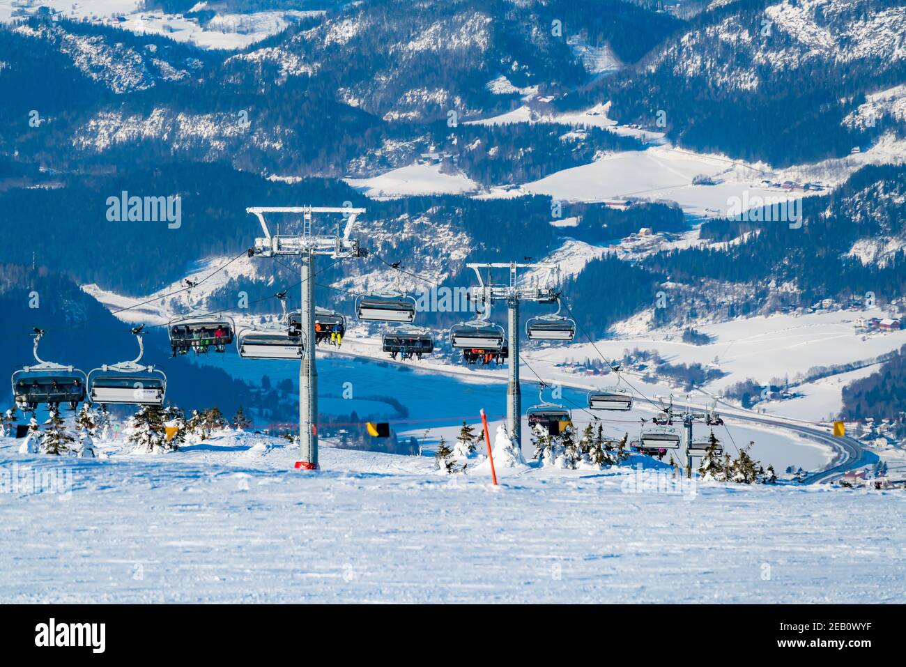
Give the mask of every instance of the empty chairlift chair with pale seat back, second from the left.
M 142 329 L 132 333 L 139 341 L 139 356 L 130 362 L 105 364 L 88 373 L 88 395 L 101 405 L 163 405 L 167 375 L 159 368 L 140 363 L 145 353 Z

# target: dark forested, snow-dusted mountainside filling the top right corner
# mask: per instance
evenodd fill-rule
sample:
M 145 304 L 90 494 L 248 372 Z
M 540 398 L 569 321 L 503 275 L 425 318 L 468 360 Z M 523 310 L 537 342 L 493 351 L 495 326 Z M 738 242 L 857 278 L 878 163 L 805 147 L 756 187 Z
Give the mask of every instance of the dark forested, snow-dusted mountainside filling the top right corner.
M 690 148 L 777 165 L 840 157 L 902 133 L 892 114 L 847 119 L 906 82 L 904 24 L 906 7 L 881 0 L 719 6 L 588 99 L 612 101 L 623 122 L 656 129 L 659 117 Z

